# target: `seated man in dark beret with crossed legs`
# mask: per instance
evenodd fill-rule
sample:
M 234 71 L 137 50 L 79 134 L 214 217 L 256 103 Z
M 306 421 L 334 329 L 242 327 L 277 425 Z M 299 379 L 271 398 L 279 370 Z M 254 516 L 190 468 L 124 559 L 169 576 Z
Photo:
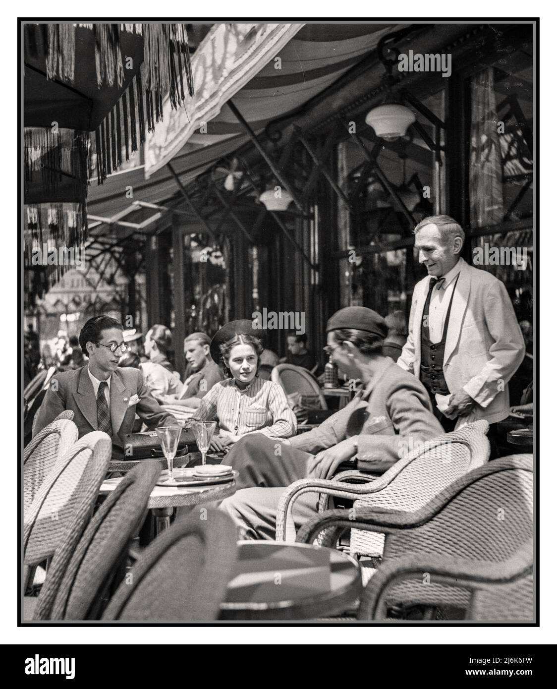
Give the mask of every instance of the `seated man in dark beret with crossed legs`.
M 247 435 L 228 453 L 226 464 L 240 472 L 239 490 L 220 508 L 243 537 L 275 537 L 277 506 L 291 483 L 331 478 L 347 460 L 358 469 L 383 473 L 411 446 L 443 434 L 421 382 L 383 356 L 386 334 L 385 321 L 371 309 L 337 311 L 327 324 L 328 353 L 348 378 L 360 379 L 364 387 L 313 431 L 282 443 Z M 315 516 L 316 503 L 315 493 L 299 497 L 293 509 L 296 525 Z

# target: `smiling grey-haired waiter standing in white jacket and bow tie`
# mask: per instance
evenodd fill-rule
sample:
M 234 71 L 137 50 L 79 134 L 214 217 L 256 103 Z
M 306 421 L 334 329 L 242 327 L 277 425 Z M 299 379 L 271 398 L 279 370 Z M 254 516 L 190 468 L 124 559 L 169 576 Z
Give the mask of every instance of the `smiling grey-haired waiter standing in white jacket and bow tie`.
M 505 285 L 461 258 L 465 235 L 453 218 L 425 218 L 414 235 L 428 275 L 414 287 L 397 364 L 421 380 L 445 431 L 501 421 L 525 352 Z

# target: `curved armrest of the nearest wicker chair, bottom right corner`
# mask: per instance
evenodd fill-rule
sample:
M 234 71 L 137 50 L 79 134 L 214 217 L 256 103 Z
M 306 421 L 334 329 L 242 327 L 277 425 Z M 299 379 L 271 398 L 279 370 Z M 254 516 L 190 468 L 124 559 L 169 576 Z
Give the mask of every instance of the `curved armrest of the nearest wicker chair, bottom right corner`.
M 532 542 L 529 548 L 529 554 L 521 551 L 495 563 L 446 555 L 397 557 L 382 564 L 370 579 L 361 596 L 358 619 L 385 619 L 390 590 L 405 581 L 418 581 L 424 586 L 441 584 L 471 593 L 492 584 L 512 584 L 532 573 Z

